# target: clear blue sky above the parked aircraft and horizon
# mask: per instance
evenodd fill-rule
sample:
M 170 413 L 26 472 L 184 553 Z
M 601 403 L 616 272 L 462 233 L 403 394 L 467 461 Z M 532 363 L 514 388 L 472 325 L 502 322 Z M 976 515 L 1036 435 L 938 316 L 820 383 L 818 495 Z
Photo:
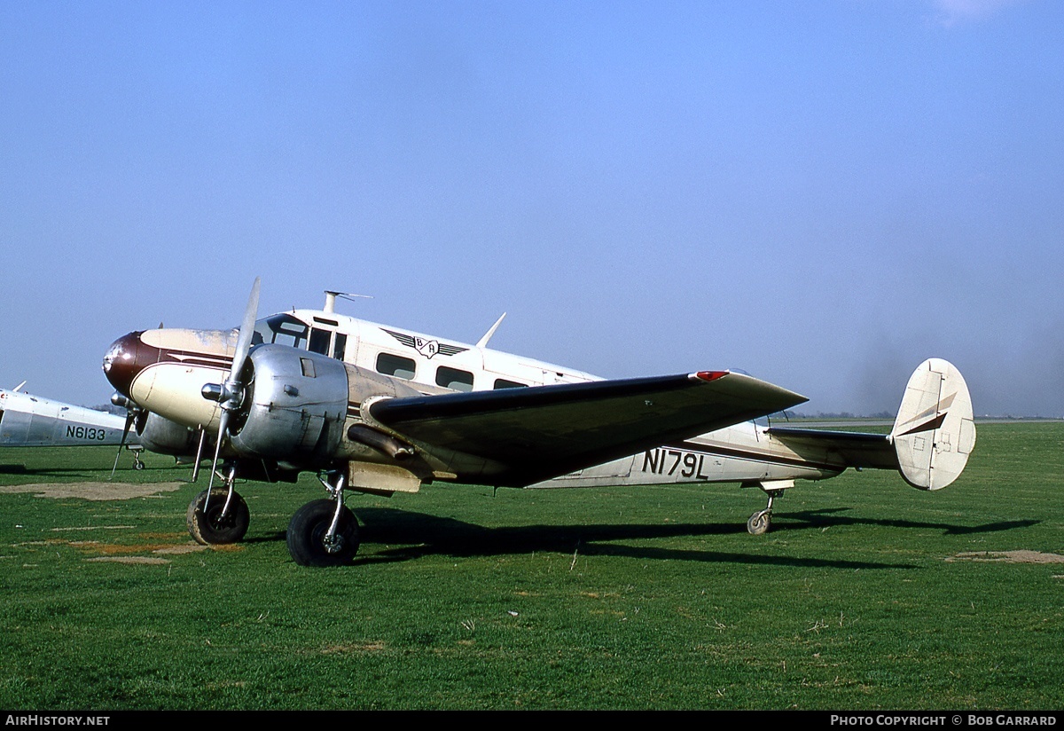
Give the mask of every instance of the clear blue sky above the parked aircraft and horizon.
M 1064 416 L 1064 3 L 0 2 L 0 385 L 342 311 L 605 377 Z

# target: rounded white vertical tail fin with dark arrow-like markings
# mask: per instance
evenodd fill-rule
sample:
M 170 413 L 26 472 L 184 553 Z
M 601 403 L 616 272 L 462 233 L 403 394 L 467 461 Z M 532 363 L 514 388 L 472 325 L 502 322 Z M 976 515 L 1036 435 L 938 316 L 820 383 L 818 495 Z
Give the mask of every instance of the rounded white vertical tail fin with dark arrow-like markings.
M 971 395 L 951 363 L 932 358 L 909 379 L 891 430 L 898 468 L 920 489 L 941 489 L 960 477 L 976 445 Z

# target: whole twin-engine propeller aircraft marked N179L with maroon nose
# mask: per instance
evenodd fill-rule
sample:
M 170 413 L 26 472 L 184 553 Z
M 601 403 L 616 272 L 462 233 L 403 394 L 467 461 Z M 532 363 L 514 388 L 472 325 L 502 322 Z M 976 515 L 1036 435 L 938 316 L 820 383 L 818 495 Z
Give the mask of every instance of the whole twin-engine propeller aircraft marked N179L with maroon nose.
M 734 482 L 768 504 L 747 524 L 768 530 L 772 501 L 795 480 L 848 467 L 895 469 L 938 489 L 976 442 L 961 373 L 932 359 L 913 373 L 890 434 L 762 427 L 750 419 L 805 398 L 750 376 L 699 370 L 603 380 L 476 345 L 338 315 L 293 310 L 256 321 L 255 280 L 237 330 L 147 330 L 115 340 L 103 370 L 127 405 L 150 417 L 142 444 L 203 456 L 211 483 L 188 508 L 202 544 L 239 541 L 239 478 L 318 475 L 329 498 L 296 512 L 298 564 L 349 563 L 359 548 L 346 491 L 417 492 L 434 481 L 509 487 Z M 501 318 L 500 318 L 501 321 Z M 225 487 L 214 486 L 214 477 Z

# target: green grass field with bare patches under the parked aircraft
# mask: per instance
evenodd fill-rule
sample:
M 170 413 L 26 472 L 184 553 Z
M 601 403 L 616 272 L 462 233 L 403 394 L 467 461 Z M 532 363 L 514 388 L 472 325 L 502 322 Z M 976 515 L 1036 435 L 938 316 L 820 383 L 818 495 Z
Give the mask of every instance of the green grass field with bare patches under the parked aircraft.
M 338 569 L 285 547 L 313 478 L 195 550 L 205 476 L 82 497 L 113 456 L 0 450 L 0 708 L 1064 708 L 1064 423 L 981 426 L 940 493 L 800 484 L 760 537 L 734 485 L 355 495 Z

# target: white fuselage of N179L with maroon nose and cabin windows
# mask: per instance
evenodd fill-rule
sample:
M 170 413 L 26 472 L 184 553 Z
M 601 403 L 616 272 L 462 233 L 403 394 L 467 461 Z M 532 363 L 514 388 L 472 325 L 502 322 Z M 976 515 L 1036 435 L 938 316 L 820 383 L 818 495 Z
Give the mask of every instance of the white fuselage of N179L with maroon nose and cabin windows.
M 236 339 L 235 330 L 132 332 L 112 345 L 104 359 L 104 371 L 120 393 L 142 408 L 190 430 L 202 429 L 213 434 L 218 428 L 221 408 L 218 402 L 203 398 L 201 389 L 204 384 L 220 383 L 226 379 L 232 366 Z M 331 392 L 331 397 L 315 394 L 311 398 L 313 403 L 307 401 L 294 405 L 294 410 L 299 410 L 298 416 L 289 418 L 286 429 L 278 431 L 270 441 L 269 451 L 275 456 L 277 452 L 273 450 L 281 442 L 299 443 L 287 449 L 281 461 L 285 466 L 305 469 L 320 468 L 334 460 L 411 469 L 410 462 L 397 460 L 386 448 L 366 444 L 365 439 L 350 438 L 350 434 L 358 433 L 351 431 L 352 427 L 377 426 L 362 409 L 372 398 L 601 380 L 565 366 L 320 310 L 294 310 L 260 319 L 255 323 L 252 352 L 261 350 L 259 360 L 265 361 L 267 352 L 262 348 L 271 344 L 294 349 L 284 352 L 315 354 L 303 360 L 313 360 L 321 372 L 315 372 L 313 380 L 303 379 L 304 384 L 320 388 L 329 379 L 337 384 L 346 380 L 345 385 L 337 385 Z M 329 367 L 329 362 L 336 365 Z M 299 359 L 293 361 L 293 364 L 296 363 Z M 301 367 L 305 370 L 315 366 L 303 362 Z M 290 373 L 288 380 L 299 377 L 300 373 Z M 261 381 L 264 376 L 256 373 L 255 378 Z M 262 384 L 256 383 L 256 389 L 261 387 Z M 286 387 L 298 391 L 304 386 Z M 343 403 L 336 400 L 337 388 L 345 393 Z M 296 400 L 303 396 L 296 397 Z M 333 412 L 338 410 L 339 413 L 330 414 L 321 405 L 330 398 L 335 402 Z M 277 409 L 279 400 L 283 399 L 264 403 L 263 414 L 280 418 L 283 410 Z M 336 427 L 331 431 L 328 429 L 330 421 Z M 381 431 L 386 437 L 387 430 Z M 322 435 L 333 443 L 322 444 Z M 234 443 L 238 443 L 239 438 L 239 435 L 234 437 Z M 259 451 L 266 453 L 267 450 L 261 448 Z M 841 460 L 832 459 L 829 450 L 813 452 L 805 450 L 804 453 L 797 453 L 774 439 L 766 427 L 745 422 L 522 486 L 741 482 L 780 488 L 789 486 L 795 479 L 833 477 L 846 467 Z M 513 484 L 512 479 L 499 478 L 498 469 L 491 460 L 463 455 L 446 459 L 432 455 L 413 472 L 418 477 L 417 482 L 453 480 Z M 365 481 L 375 482 L 380 481 L 382 476 L 378 469 L 365 477 Z M 359 485 L 356 482 L 353 480 L 349 486 L 372 489 L 370 484 Z M 387 492 L 394 488 L 413 491 L 416 485 L 412 480 L 400 481 L 390 484 Z

